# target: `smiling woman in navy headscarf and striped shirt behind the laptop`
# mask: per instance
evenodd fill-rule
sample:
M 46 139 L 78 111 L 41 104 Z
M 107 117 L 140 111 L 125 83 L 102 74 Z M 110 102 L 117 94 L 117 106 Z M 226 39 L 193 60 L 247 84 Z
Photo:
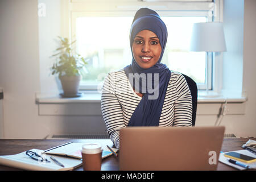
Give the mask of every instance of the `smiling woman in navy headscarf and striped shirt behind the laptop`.
M 130 30 L 133 60 L 110 72 L 102 88 L 101 111 L 115 147 L 127 126 L 192 126 L 192 97 L 187 81 L 160 63 L 167 28 L 153 10 L 139 9 Z

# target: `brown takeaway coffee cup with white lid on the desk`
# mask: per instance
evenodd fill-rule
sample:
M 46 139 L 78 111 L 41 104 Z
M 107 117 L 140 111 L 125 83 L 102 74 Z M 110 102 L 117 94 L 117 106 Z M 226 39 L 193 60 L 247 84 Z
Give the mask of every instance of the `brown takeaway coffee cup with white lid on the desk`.
M 85 171 L 101 170 L 102 148 L 98 143 L 86 143 L 82 146 L 82 166 Z

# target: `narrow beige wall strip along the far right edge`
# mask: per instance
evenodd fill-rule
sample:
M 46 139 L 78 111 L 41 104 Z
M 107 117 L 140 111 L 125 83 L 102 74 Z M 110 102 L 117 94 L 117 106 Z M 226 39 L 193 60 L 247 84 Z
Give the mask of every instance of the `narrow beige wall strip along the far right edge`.
M 248 97 L 245 117 L 237 126 L 248 134 L 256 137 L 256 1 L 245 0 L 244 30 L 243 30 L 243 93 Z M 254 134 L 254 135 L 253 135 Z

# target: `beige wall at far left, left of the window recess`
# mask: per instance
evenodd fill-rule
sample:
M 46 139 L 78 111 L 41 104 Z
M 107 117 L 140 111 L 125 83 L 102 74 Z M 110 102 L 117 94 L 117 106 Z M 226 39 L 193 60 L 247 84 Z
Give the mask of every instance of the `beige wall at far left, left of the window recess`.
M 37 135 L 35 92 L 40 90 L 36 1 L 1 1 L 0 85 L 5 135 Z M 24 125 L 25 123 L 25 125 Z

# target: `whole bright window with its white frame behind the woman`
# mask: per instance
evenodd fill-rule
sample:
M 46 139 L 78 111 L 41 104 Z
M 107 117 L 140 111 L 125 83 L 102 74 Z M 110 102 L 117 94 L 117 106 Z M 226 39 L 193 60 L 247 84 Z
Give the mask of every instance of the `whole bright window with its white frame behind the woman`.
M 112 3 L 114 6 L 111 6 Z M 143 2 L 142 6 L 156 10 L 166 23 L 168 40 L 162 63 L 172 71 L 192 77 L 199 89 L 206 89 L 206 74 L 209 89 L 212 88 L 212 57 L 207 59 L 205 52 L 191 52 L 189 46 L 193 23 L 212 21 L 209 3 Z M 70 10 L 71 35 L 77 40 L 77 52 L 86 57 L 89 63 L 82 75 L 80 89 L 100 88 L 99 83 L 108 72 L 131 63 L 129 32 L 133 16 L 140 7 L 137 6 L 138 2 L 126 4 L 111 2 L 108 7 L 101 6 L 98 10 L 100 5 L 96 7 L 93 3 L 73 3 Z M 166 7 L 171 9 L 166 10 Z M 209 61 L 208 70 L 205 69 L 206 60 Z

